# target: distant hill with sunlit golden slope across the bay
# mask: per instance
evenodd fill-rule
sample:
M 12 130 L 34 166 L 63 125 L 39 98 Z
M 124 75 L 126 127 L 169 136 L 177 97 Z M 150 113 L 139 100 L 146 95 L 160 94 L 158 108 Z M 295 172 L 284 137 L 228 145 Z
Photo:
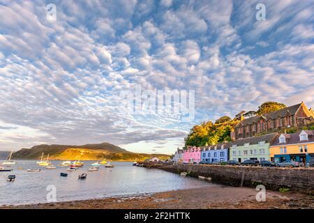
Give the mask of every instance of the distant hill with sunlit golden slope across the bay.
M 52 160 L 114 160 L 114 161 L 133 161 L 145 160 L 151 156 L 161 159 L 169 159 L 169 155 L 132 153 L 124 148 L 114 146 L 109 143 L 86 144 L 82 146 L 71 145 L 38 145 L 31 148 L 22 148 L 13 153 L 13 159 L 38 160 L 42 153 L 50 155 Z

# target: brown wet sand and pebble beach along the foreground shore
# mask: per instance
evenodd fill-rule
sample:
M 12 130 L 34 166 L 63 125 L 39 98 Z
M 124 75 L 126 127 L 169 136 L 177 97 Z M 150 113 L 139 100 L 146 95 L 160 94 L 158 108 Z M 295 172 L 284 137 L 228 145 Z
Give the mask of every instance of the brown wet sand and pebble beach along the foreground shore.
M 139 194 L 136 196 L 91 199 L 84 201 L 63 201 L 22 206 L 1 206 L 0 208 L 79 208 L 79 209 L 156 209 L 156 208 L 314 208 L 314 197 L 296 192 L 266 193 L 265 202 L 256 201 L 257 191 L 248 187 L 230 187 L 216 185 L 199 189 L 158 192 L 156 194 Z

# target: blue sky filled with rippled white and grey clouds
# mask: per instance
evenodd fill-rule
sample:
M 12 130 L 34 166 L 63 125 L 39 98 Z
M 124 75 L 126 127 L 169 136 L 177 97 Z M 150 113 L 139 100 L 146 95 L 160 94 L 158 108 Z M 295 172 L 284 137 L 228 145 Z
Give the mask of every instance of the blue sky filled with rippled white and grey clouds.
M 171 154 L 202 121 L 269 100 L 312 107 L 313 15 L 300 0 L 0 0 L 0 150 L 107 141 Z M 194 91 L 195 116 L 126 111 L 135 85 Z

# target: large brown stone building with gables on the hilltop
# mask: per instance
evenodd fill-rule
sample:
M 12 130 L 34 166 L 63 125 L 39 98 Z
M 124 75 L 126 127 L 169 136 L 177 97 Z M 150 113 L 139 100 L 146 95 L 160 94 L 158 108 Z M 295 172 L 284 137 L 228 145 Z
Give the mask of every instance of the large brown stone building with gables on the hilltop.
M 308 109 L 304 102 L 285 107 L 276 112 L 246 118 L 232 132 L 232 139 L 253 137 L 260 132 L 275 132 L 277 129 L 306 125 L 314 121 L 313 109 Z

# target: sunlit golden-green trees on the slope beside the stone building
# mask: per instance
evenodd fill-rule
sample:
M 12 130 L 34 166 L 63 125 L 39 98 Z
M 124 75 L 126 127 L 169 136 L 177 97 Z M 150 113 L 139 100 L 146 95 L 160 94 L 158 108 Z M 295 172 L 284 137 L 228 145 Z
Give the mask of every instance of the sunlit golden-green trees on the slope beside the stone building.
M 222 116 L 214 123 L 212 121 L 203 122 L 200 125 L 194 125 L 190 133 L 184 139 L 185 146 L 206 146 L 214 145 L 223 141 L 231 141 L 230 132 L 243 118 L 274 112 L 286 107 L 278 102 L 264 102 L 257 108 L 257 111 L 241 111 L 239 114 L 230 118 Z

